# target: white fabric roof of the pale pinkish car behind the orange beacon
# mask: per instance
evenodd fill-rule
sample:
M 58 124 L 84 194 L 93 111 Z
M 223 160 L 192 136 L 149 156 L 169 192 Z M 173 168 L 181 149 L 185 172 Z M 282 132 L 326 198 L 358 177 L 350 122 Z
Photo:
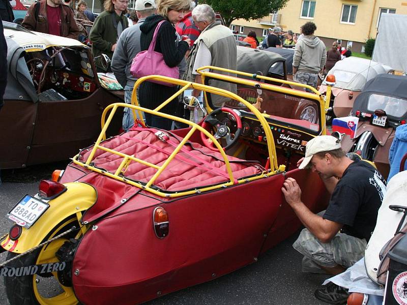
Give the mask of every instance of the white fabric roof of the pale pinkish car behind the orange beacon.
M 393 69 L 389 66 L 366 58 L 351 56 L 336 62 L 335 66 L 329 71 L 329 74 L 335 75 L 336 88 L 361 91 L 368 80 L 376 77 L 378 74 L 386 74 L 390 71 L 393 71 Z

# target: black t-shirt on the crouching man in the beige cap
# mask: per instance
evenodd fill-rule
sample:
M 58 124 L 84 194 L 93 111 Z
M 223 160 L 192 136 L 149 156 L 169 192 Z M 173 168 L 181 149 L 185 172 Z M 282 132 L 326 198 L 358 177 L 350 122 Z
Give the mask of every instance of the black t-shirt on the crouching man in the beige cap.
M 342 233 L 368 241 L 385 193 L 383 176 L 367 162 L 356 160 L 338 181 L 324 218 L 342 224 Z

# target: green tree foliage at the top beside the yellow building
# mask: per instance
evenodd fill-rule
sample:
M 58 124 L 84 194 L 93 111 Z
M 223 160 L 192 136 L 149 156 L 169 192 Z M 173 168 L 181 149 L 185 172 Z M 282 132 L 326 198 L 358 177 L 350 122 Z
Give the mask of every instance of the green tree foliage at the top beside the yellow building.
M 203 0 L 225 19 L 226 26 L 235 19 L 258 19 L 277 12 L 288 0 Z

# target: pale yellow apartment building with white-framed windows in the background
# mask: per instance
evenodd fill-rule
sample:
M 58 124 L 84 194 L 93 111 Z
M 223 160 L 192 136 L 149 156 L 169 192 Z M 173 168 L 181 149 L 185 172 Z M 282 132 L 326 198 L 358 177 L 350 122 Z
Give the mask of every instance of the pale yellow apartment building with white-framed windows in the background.
M 269 27 L 280 26 L 283 31 L 300 32 L 307 21 L 316 24 L 315 35 L 327 47 L 336 40 L 343 47 L 352 46 L 355 52 L 364 50 L 368 38 L 375 38 L 382 13 L 407 14 L 406 0 L 290 0 L 286 7 L 265 18 L 232 22 L 231 28 L 247 35 L 255 31 L 265 36 Z M 402 34 L 400 38 L 403 37 Z

